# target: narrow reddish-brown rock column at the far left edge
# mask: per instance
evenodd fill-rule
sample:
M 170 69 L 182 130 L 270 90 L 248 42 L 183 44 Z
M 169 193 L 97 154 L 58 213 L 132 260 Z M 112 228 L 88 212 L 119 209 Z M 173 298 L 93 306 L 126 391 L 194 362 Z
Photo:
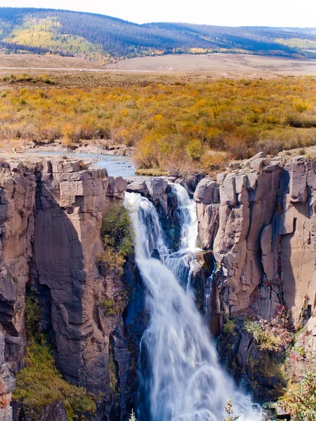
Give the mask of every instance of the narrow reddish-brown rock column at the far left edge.
M 23 366 L 25 284 L 32 255 L 36 177 L 22 164 L 0 168 L 0 323 L 11 370 Z

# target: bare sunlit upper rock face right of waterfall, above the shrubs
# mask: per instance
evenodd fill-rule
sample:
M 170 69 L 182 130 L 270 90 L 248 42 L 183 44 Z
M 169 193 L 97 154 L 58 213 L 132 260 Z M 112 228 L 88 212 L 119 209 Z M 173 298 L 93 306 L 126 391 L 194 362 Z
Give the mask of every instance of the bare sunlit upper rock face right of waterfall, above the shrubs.
M 316 164 L 259 157 L 249 166 L 199 182 L 199 239 L 220 266 L 227 314 L 252 306 L 269 319 L 285 303 L 297 323 L 316 304 Z

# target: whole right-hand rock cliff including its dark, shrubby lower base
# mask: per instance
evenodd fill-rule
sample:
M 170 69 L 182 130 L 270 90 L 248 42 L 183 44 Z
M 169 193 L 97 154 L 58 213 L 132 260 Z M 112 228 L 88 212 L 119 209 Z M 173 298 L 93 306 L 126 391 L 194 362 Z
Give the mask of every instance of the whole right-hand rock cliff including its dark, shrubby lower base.
M 306 356 L 316 366 L 316 163 L 259 154 L 242 167 L 204 178 L 194 197 L 199 241 L 218 266 L 214 310 L 228 321 L 220 359 L 265 401 L 284 393 L 284 373 L 300 381 Z M 303 330 L 294 340 L 295 328 Z

